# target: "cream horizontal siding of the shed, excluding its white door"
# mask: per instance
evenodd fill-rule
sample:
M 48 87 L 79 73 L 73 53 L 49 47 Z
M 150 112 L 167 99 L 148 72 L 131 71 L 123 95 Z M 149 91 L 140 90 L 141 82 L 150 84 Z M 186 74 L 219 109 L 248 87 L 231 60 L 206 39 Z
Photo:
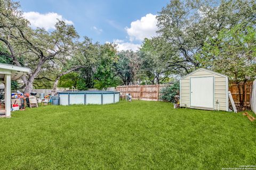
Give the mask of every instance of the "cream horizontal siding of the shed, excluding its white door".
M 180 106 L 190 107 L 190 78 L 193 77 L 214 77 L 214 108 L 218 100 L 219 110 L 227 111 L 227 77 L 200 69 L 180 80 Z

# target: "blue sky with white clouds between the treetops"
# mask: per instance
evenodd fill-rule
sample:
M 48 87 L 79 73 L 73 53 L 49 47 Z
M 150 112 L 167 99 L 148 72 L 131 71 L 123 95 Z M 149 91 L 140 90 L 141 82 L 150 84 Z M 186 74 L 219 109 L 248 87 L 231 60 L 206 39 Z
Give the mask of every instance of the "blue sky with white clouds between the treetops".
M 45 27 L 50 31 L 54 29 L 55 19 L 60 18 L 74 24 L 81 37 L 88 36 L 101 44 L 114 41 L 121 45 L 121 49 L 135 49 L 143 38 L 155 36 L 155 15 L 168 2 L 20 0 L 31 27 Z

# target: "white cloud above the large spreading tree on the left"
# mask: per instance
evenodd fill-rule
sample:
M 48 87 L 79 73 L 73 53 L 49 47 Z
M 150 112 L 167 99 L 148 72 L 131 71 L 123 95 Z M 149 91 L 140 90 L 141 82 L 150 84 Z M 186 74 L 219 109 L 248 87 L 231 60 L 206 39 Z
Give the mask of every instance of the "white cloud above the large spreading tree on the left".
M 41 14 L 39 12 L 24 12 L 23 16 L 29 20 L 31 27 L 36 28 L 45 28 L 45 30 L 55 29 L 55 24 L 57 19 L 65 21 L 67 24 L 74 24 L 72 21 L 66 20 L 62 15 L 49 12 Z

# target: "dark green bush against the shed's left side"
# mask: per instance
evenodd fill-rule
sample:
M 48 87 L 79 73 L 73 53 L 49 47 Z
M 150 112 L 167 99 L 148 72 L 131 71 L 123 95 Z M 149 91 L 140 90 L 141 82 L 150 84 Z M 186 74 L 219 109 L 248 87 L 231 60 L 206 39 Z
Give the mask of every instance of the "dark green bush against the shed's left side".
M 167 100 L 167 101 L 170 101 L 172 103 L 175 103 L 174 96 L 178 95 L 179 89 L 180 89 L 180 83 L 178 81 L 174 82 L 170 86 L 165 87 L 161 90 L 162 95 L 161 95 L 160 98 L 162 100 Z

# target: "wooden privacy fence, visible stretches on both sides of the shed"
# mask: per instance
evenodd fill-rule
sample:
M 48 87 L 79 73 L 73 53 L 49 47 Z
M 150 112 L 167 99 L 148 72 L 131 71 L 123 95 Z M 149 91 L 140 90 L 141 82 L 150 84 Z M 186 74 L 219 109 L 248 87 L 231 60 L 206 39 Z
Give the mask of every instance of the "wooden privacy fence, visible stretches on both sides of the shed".
M 133 99 L 140 100 L 154 100 L 158 101 L 161 96 L 161 89 L 169 86 L 169 84 L 155 84 L 155 85 L 132 85 L 132 86 L 117 86 L 116 91 L 120 92 L 121 97 L 125 94 L 131 94 Z M 239 84 L 239 88 L 242 90 L 242 83 Z M 229 91 L 236 105 L 240 104 L 238 86 L 235 83 L 229 84 Z M 242 90 L 243 91 L 243 90 Z M 252 95 L 252 82 L 249 81 L 245 84 L 245 96 L 244 105 L 250 105 L 250 99 Z

